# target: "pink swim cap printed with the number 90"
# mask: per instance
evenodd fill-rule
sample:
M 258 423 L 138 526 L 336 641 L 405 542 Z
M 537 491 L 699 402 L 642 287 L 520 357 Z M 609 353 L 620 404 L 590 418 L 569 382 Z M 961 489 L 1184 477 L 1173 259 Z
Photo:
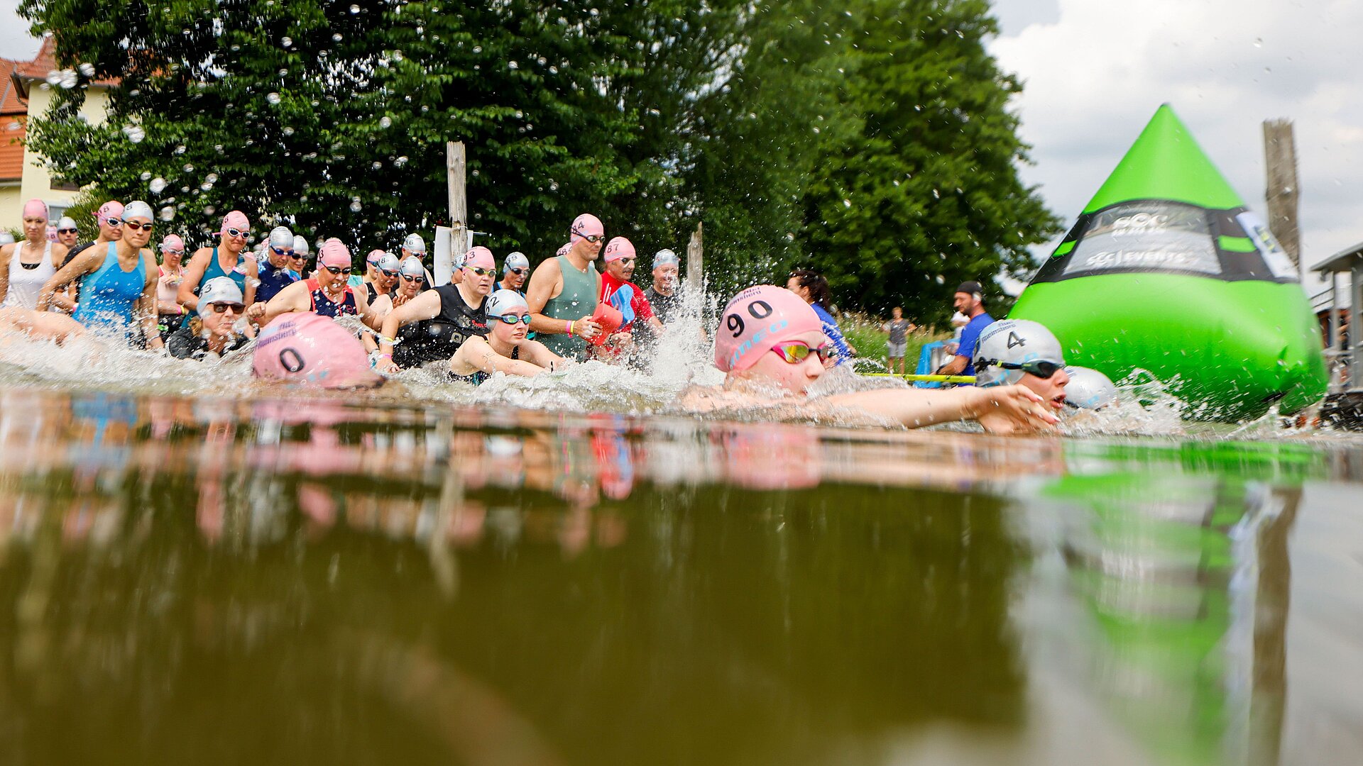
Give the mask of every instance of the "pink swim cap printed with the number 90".
M 756 285 L 733 296 L 720 319 L 714 365 L 737 372 L 756 364 L 781 341 L 822 333 L 819 315 L 804 298 L 776 285 Z

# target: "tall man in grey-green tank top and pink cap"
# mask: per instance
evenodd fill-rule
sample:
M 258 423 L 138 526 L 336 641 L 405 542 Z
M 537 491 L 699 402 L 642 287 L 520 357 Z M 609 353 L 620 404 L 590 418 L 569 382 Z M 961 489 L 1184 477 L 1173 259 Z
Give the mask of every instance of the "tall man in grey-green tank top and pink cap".
M 601 294 L 593 263 L 605 241 L 605 226 L 590 213 L 572 221 L 568 244 L 530 274 L 525 300 L 536 339 L 564 358 L 587 358 L 587 341 L 601 331 L 592 315 Z

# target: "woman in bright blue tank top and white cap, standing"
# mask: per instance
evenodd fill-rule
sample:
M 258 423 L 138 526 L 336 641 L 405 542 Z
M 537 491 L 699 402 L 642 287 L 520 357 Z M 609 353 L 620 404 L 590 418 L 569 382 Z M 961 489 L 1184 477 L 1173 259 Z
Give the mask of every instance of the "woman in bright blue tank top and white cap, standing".
M 146 202 L 129 202 L 123 209 L 123 236 L 108 247 L 86 248 L 42 286 L 38 311 L 46 311 L 53 294 L 78 278 L 85 278 L 80 303 L 72 318 L 87 328 L 123 330 L 135 345 L 161 349 L 157 330 L 157 260 L 146 247 L 151 240 L 154 214 Z M 136 330 L 142 339 L 136 338 Z

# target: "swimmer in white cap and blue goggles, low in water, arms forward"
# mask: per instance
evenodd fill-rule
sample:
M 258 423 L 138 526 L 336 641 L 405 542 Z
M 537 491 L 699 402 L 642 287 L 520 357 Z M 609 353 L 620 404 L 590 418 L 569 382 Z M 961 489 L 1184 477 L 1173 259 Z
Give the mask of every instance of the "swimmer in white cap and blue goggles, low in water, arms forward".
M 563 357 L 544 348 L 544 343 L 525 337 L 530 330 L 530 307 L 521 293 L 492 293 L 488 296 L 487 311 L 491 326 L 488 334 L 469 338 L 450 358 L 450 373 L 457 380 L 477 386 L 493 372 L 534 378 L 566 364 Z

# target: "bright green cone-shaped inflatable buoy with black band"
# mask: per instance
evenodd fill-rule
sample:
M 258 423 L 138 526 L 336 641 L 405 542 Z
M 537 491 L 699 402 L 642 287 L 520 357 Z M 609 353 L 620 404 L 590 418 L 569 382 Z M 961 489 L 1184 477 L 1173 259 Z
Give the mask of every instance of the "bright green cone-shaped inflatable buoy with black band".
M 1321 328 L 1264 219 L 1168 104 L 1018 297 L 1065 360 L 1146 371 L 1199 420 L 1293 413 L 1325 395 Z

